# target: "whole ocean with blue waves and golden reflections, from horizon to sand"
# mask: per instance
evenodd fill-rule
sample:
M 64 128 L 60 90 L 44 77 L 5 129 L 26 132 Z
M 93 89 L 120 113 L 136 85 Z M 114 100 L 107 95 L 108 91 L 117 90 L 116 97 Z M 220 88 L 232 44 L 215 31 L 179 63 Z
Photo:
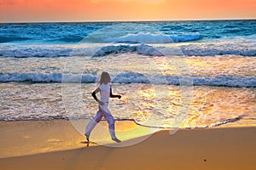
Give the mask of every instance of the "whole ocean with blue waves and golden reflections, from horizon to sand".
M 116 120 L 256 124 L 256 20 L 0 24 L 0 120 L 90 119 L 108 71 Z

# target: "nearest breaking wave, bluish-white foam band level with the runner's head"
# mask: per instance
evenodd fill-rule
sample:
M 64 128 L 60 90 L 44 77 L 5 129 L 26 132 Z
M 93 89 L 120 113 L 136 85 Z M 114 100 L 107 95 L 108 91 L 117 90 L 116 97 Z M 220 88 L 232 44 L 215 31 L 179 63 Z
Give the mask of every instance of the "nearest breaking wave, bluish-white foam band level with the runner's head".
M 63 76 L 64 79 L 63 79 Z M 180 85 L 177 76 L 143 75 L 142 73 L 127 72 L 113 75 L 116 83 L 153 83 Z M 195 86 L 227 86 L 227 87 L 256 87 L 256 77 L 234 77 L 234 76 L 192 76 Z M 0 73 L 0 82 L 96 82 L 95 74 L 62 74 L 54 73 Z M 165 80 L 165 81 L 163 81 Z

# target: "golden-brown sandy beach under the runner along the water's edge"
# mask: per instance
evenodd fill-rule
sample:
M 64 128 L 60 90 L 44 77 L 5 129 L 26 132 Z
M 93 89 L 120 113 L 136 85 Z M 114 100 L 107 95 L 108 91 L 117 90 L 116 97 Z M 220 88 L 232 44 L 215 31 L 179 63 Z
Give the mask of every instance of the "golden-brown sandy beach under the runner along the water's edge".
M 0 166 L 4 170 L 256 167 L 255 127 L 183 129 L 173 135 L 169 130 L 161 130 L 139 144 L 114 148 L 98 144 L 86 147 L 84 137 L 69 121 L 0 122 L 0 125 Z M 131 121 L 116 122 L 117 129 L 125 127 L 138 127 L 137 138 L 152 130 Z

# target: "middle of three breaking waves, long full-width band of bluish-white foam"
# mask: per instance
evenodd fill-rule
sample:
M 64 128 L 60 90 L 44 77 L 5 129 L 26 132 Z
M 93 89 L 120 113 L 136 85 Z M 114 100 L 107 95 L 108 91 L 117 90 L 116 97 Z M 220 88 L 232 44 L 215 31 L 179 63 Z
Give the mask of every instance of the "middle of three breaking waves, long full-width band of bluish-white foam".
M 143 43 L 100 44 L 84 47 L 83 45 L 1 45 L 0 56 L 28 58 L 28 57 L 72 57 L 72 56 L 107 56 L 110 54 L 142 54 L 148 56 L 162 56 L 160 53 L 168 51 L 168 55 L 215 56 L 234 54 L 241 56 L 256 56 L 255 44 L 240 44 L 231 42 L 191 43 L 181 45 L 151 46 Z

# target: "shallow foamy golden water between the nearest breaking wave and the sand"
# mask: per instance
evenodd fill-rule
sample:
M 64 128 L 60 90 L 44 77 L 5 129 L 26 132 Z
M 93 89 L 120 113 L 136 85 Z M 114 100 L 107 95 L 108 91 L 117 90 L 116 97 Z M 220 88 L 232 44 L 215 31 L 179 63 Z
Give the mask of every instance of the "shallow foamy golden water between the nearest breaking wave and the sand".
M 146 77 L 142 74 L 134 75 L 134 77 Z M 70 84 L 71 88 L 68 89 L 70 91 L 63 91 L 62 85 L 61 83 L 0 83 L 3 89 L 0 92 L 2 97 L 0 120 L 90 119 L 95 115 L 96 102 L 90 95 L 92 84 L 80 84 L 79 93 L 83 93 L 83 101 L 77 99 L 77 95 L 80 94 L 74 93 L 76 92 L 73 88 L 74 84 Z M 134 120 L 137 124 L 148 127 L 179 127 L 176 123 L 176 116 L 179 113 L 179 106 L 183 105 L 180 99 L 181 88 L 165 84 L 155 86 L 142 83 L 113 84 L 114 92 L 123 96 L 121 99 L 111 101 L 113 117 L 119 121 Z M 160 90 L 161 93 L 151 98 L 144 95 L 148 89 Z M 183 127 L 218 127 L 230 123 L 255 124 L 253 115 L 255 107 L 252 105 L 253 88 L 201 86 L 195 87 L 194 90 L 195 102 L 189 107 L 190 112 Z M 172 94 L 172 98 L 169 93 Z M 67 111 L 63 100 L 63 95 L 67 94 L 70 99 L 69 105 L 74 109 L 73 113 Z M 155 98 L 160 100 L 155 100 Z M 244 102 L 245 99 L 247 102 Z M 78 111 L 80 107 L 82 109 Z M 138 108 L 142 114 L 138 114 Z M 160 122 L 160 124 L 156 126 L 155 122 Z

